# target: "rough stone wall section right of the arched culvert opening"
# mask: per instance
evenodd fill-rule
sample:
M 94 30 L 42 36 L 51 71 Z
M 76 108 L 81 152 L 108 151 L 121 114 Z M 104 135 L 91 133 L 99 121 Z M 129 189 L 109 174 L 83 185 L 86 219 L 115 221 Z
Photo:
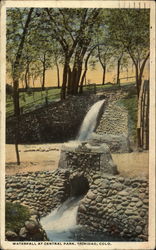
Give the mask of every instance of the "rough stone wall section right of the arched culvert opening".
M 96 232 L 146 241 L 148 181 L 96 174 L 81 201 L 77 221 Z

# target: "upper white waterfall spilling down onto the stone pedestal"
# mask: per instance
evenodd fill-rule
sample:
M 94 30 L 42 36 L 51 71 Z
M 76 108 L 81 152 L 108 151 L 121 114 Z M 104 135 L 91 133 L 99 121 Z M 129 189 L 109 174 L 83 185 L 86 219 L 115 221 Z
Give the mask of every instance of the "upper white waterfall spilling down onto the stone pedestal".
M 87 140 L 90 134 L 94 131 L 96 127 L 96 123 L 97 123 L 99 110 L 102 107 L 104 101 L 105 100 L 100 100 L 96 102 L 88 111 L 81 125 L 80 131 L 77 137 L 78 141 Z

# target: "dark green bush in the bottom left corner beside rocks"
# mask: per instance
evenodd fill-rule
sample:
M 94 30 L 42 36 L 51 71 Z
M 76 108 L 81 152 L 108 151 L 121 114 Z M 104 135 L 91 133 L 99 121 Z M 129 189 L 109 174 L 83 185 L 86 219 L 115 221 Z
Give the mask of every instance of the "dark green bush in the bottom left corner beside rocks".
M 6 231 L 11 230 L 16 233 L 24 226 L 24 222 L 29 219 L 29 209 L 19 203 L 6 202 L 5 209 Z

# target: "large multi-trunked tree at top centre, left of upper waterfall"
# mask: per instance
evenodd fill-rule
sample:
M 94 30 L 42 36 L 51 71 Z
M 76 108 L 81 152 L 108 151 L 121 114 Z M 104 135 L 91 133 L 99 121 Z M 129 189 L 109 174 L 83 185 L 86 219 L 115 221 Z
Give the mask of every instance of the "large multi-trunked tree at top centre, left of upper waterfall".
M 57 41 L 64 53 L 61 98 L 77 94 L 82 64 L 99 26 L 100 9 L 46 9 Z M 56 18 L 57 17 L 57 18 Z

